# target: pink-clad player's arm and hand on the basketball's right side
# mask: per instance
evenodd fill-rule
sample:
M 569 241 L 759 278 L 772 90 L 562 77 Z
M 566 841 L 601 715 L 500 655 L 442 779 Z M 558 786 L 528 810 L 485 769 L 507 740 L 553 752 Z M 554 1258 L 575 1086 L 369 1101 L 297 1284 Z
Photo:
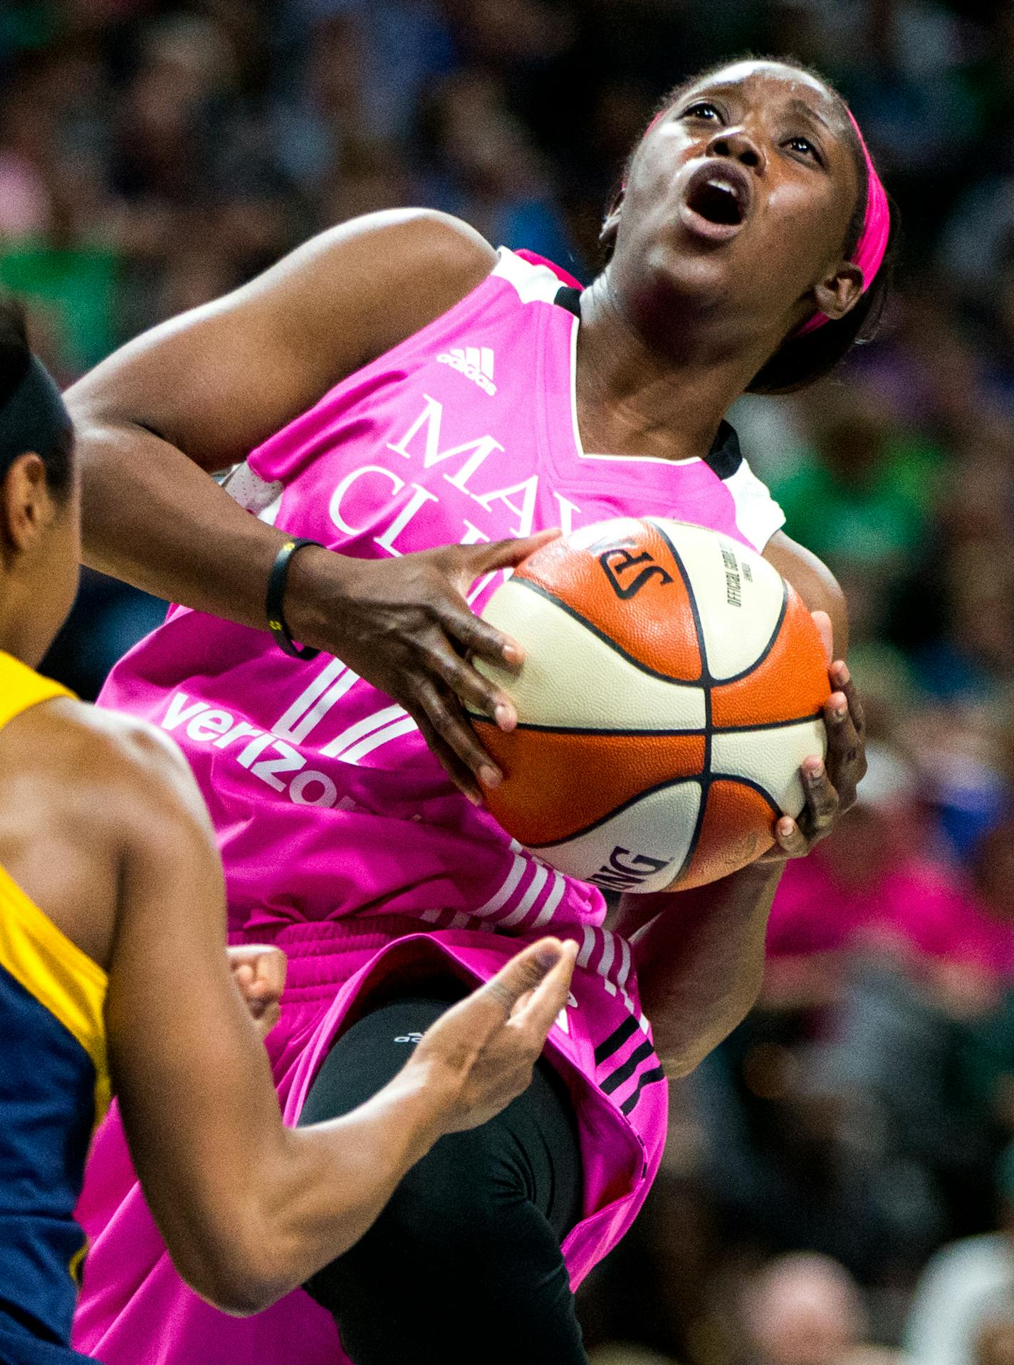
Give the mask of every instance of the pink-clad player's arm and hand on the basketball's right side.
M 856 800 L 865 773 L 863 706 L 843 662 L 845 595 L 830 569 L 782 532 L 771 538 L 764 557 L 817 613 L 828 658 L 834 658 L 832 692 L 824 707 L 827 758 L 822 762 L 815 755 L 804 764 L 805 811 L 798 822 L 782 816 L 770 854 L 708 886 L 621 901 L 615 927 L 632 938 L 641 1002 L 670 1076 L 692 1072 L 753 1007 L 783 863 L 804 856 L 830 833 Z

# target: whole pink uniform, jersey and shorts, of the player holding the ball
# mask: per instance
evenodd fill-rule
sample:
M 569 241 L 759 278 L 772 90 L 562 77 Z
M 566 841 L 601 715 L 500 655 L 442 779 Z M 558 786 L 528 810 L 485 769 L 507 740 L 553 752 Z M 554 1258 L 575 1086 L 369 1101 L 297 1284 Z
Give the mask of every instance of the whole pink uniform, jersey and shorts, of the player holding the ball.
M 581 446 L 579 317 L 579 291 L 554 269 L 501 250 L 483 284 L 252 450 L 228 489 L 251 515 L 363 558 L 629 515 L 695 521 L 763 549 L 783 519 L 729 426 L 707 459 L 681 463 Z M 474 586 L 476 610 L 501 581 Z M 218 834 L 231 936 L 272 939 L 289 954 L 291 1003 L 269 1039 L 288 1121 L 355 991 L 396 961 L 393 950 L 429 942 L 487 977 L 519 938 L 549 931 L 580 943 L 549 1052 L 573 1078 L 581 1132 L 585 1216 L 564 1248 L 579 1282 L 633 1220 L 667 1104 L 631 946 L 605 928 L 600 893 L 474 809 L 412 719 L 340 659 L 299 662 L 263 632 L 173 607 L 113 670 L 101 703 L 180 744 Z M 306 1365 L 344 1360 L 306 1295 L 289 1295 L 259 1330 L 199 1304 L 123 1183 L 119 1130 L 100 1134 L 97 1153 L 79 1347 L 126 1365 L 143 1354 L 150 1324 L 166 1365 L 213 1358 L 209 1334 L 214 1358 L 281 1365 L 298 1323 Z M 131 1264 L 131 1218 L 146 1268 Z

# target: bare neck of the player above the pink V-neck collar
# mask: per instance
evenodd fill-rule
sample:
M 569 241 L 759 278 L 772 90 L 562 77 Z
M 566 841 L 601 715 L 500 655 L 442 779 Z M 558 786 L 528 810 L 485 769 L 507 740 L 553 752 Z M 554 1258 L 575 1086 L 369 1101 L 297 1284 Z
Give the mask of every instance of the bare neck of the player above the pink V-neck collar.
M 585 449 L 686 460 L 707 455 L 729 407 L 759 367 L 722 354 L 706 324 L 686 319 L 678 351 L 646 341 L 599 277 L 581 295 L 577 416 Z

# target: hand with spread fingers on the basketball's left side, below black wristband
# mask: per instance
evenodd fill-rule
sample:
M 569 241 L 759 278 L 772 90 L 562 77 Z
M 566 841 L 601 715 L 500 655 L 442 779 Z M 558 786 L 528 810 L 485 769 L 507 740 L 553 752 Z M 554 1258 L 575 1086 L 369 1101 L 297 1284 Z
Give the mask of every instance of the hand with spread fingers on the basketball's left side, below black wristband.
M 484 573 L 513 568 L 557 535 L 449 545 L 396 560 L 307 549 L 289 571 L 285 618 L 303 644 L 334 654 L 394 698 L 457 786 L 479 804 L 480 784 L 495 786 L 502 774 L 465 707 L 502 730 L 515 728 L 517 714 L 506 692 L 469 661 L 517 667 L 524 651 L 478 617 L 465 594 Z

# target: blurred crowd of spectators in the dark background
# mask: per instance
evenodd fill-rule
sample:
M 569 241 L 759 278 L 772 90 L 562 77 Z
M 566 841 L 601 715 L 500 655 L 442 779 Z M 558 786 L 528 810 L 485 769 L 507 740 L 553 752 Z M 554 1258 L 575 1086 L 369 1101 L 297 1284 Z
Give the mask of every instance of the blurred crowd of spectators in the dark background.
M 4 0 L 0 285 L 71 381 L 371 209 L 588 280 L 658 98 L 744 51 L 841 87 L 906 225 L 882 339 L 734 414 L 848 591 L 871 771 L 581 1317 L 596 1365 L 1014 1365 L 1014 5 Z M 50 667 L 94 696 L 161 610 L 86 573 Z

